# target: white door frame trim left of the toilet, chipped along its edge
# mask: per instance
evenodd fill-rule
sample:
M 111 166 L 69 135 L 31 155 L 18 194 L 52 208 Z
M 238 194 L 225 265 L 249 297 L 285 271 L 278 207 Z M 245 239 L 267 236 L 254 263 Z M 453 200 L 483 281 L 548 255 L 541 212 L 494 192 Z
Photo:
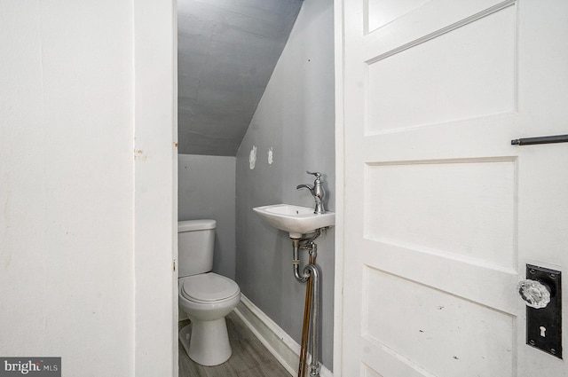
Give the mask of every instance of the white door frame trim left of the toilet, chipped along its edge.
M 176 0 L 132 3 L 134 281 L 129 326 L 132 375 L 137 377 L 177 377 L 176 5 Z

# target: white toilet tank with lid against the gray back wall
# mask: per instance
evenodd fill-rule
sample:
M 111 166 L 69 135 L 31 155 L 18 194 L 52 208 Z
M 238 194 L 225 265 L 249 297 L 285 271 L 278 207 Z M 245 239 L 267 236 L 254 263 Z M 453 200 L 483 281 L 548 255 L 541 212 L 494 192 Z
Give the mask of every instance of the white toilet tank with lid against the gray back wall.
M 178 277 L 197 275 L 213 269 L 215 220 L 177 222 Z

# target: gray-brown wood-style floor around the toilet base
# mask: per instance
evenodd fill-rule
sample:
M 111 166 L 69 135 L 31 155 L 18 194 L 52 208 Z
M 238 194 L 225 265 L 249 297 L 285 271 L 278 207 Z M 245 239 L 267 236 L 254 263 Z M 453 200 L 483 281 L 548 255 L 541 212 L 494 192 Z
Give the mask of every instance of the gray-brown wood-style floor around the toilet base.
M 290 377 L 290 373 L 266 350 L 234 311 L 227 317 L 233 355 L 222 365 L 199 365 L 185 353 L 179 342 L 179 377 Z M 179 328 L 189 321 L 179 323 Z

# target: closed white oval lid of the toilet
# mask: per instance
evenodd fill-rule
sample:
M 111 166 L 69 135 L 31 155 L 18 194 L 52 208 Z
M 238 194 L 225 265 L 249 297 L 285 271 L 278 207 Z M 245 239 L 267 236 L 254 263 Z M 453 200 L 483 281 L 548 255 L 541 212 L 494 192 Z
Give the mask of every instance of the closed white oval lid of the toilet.
M 184 279 L 181 293 L 193 302 L 214 302 L 233 297 L 240 292 L 233 280 L 209 272 Z

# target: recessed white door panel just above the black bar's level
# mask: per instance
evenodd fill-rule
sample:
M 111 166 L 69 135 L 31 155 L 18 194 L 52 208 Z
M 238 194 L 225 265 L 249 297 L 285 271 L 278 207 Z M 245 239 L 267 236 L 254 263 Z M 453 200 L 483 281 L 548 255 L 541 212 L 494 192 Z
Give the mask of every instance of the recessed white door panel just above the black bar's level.
M 509 6 L 370 59 L 367 135 L 513 112 L 515 23 Z

